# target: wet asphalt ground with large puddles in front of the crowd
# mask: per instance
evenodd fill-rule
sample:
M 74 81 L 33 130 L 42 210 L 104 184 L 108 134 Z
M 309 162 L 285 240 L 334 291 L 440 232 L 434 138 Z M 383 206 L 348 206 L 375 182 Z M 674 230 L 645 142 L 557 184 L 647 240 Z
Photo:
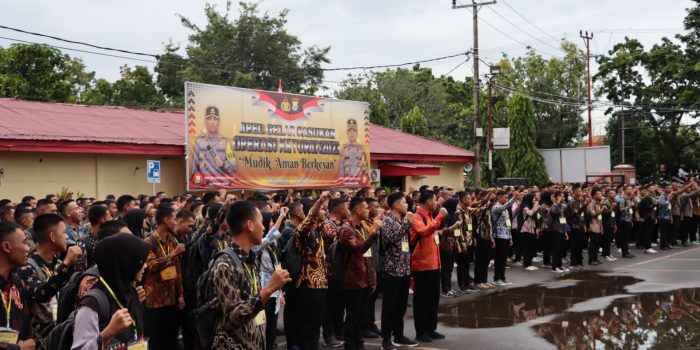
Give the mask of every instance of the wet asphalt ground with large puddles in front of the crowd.
M 447 339 L 413 349 L 700 349 L 700 247 L 658 254 L 630 248 L 634 259 L 561 275 L 513 267 L 506 270 L 510 286 L 441 298 L 438 332 Z M 378 301 L 378 320 L 380 314 Z M 286 348 L 284 336 L 278 345 Z M 365 341 L 367 349 L 380 345 Z

